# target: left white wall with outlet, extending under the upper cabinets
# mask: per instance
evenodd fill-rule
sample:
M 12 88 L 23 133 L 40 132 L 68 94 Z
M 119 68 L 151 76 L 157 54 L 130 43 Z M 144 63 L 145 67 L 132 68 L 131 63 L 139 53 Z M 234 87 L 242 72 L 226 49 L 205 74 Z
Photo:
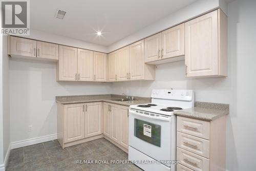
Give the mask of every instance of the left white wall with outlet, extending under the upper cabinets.
M 109 93 L 109 83 L 56 82 L 54 62 L 11 58 L 9 76 L 11 142 L 56 134 L 55 96 Z

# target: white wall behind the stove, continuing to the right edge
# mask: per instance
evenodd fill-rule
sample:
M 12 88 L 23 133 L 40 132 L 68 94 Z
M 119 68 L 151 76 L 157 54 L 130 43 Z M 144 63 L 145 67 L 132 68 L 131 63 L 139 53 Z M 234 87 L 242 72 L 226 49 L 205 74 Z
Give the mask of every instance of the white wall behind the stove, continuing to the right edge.
M 228 77 L 185 78 L 184 61 L 159 65 L 156 81 L 113 83 L 112 93 L 150 96 L 152 89 L 193 89 L 196 101 L 230 104 L 227 170 L 255 170 L 256 1 L 228 4 Z

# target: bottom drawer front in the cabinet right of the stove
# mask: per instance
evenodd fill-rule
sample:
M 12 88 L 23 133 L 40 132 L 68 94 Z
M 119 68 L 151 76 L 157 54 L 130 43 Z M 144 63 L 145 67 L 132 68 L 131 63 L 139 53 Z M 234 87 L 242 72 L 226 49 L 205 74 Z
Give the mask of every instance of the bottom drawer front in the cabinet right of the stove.
M 210 161 L 202 156 L 177 147 L 177 160 L 180 164 L 195 171 L 209 171 Z

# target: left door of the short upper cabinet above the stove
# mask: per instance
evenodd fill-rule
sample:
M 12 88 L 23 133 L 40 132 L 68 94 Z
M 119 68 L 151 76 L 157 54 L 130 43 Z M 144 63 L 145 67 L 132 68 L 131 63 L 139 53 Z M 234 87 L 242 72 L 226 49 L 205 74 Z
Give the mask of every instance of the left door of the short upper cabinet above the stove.
M 161 59 L 161 33 L 145 39 L 145 62 Z

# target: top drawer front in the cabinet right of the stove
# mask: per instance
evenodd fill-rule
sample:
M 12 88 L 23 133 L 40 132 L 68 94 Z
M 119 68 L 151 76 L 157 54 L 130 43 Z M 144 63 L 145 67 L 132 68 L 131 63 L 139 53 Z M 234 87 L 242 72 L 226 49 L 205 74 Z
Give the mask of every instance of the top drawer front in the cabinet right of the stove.
M 177 131 L 209 140 L 210 122 L 178 116 Z

